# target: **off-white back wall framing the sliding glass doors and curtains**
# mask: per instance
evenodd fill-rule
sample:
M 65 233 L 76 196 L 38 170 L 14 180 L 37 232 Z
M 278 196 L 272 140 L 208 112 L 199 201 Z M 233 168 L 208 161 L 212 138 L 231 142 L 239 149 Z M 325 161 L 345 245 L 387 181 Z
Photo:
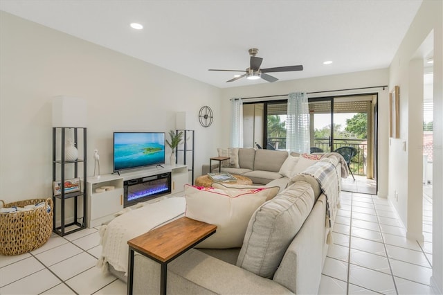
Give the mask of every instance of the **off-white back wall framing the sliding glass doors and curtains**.
M 235 82 L 234 82 L 235 83 Z M 265 84 L 255 84 L 244 87 L 222 89 L 221 112 L 222 116 L 230 118 L 230 98 L 246 98 L 255 96 L 273 96 L 287 94 L 293 91 L 316 92 L 338 89 L 352 89 L 358 87 L 372 87 L 388 85 L 388 69 L 362 71 L 357 73 L 345 73 L 341 75 L 328 75 L 323 77 L 306 78 L 291 81 L 279 81 Z M 311 94 L 309 97 L 343 95 L 354 93 L 378 93 L 379 94 L 379 196 L 388 195 L 388 137 L 389 137 L 389 96 L 388 89 L 364 89 L 354 91 L 339 91 L 330 93 Z M 228 121 L 228 120 L 227 120 Z M 228 121 L 229 122 L 229 121 Z M 229 145 L 230 129 L 222 130 L 221 142 L 224 146 Z

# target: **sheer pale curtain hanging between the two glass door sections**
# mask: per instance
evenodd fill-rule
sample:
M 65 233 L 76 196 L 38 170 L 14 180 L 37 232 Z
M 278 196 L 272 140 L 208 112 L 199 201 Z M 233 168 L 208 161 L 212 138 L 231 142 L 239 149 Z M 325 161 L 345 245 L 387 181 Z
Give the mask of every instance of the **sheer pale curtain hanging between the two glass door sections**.
M 288 95 L 286 148 L 289 152 L 309 153 L 309 106 L 306 93 Z

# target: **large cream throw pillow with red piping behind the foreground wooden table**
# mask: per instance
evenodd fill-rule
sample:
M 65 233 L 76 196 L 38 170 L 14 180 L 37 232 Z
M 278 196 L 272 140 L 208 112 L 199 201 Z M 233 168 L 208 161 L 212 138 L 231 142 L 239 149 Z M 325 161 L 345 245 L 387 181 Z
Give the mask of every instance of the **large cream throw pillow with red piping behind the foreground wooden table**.
M 244 233 L 254 211 L 276 188 L 226 190 L 185 185 L 185 216 L 217 225 L 217 231 L 199 248 L 242 247 Z

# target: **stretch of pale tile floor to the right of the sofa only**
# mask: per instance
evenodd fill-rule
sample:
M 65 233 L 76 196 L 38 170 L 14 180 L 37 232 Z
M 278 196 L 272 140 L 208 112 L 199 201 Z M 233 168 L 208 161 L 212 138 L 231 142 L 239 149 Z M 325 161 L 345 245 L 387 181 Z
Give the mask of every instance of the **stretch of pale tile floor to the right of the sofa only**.
M 318 294 L 437 294 L 432 275 L 432 204 L 424 198 L 424 243 L 386 199 L 342 192 Z

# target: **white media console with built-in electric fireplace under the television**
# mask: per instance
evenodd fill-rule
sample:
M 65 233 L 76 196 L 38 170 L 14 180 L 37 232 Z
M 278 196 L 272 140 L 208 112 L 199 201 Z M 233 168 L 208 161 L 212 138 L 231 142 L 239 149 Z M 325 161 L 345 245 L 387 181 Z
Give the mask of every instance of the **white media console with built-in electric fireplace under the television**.
M 120 175 L 100 175 L 100 178 L 87 177 L 87 226 L 91 228 L 99 226 L 104 222 L 109 222 L 114 218 L 115 213 L 123 210 L 123 183 L 125 181 L 161 175 L 168 172 L 171 173 L 170 195 L 183 191 L 183 186 L 188 183 L 188 166 L 186 165 L 164 165 L 164 168 L 152 167 L 133 172 L 123 172 Z M 114 189 L 105 190 L 100 193 L 96 192 L 97 189 L 100 190 L 100 188 L 106 188 L 107 186 L 112 186 Z M 155 197 L 153 197 L 153 199 L 154 198 Z

